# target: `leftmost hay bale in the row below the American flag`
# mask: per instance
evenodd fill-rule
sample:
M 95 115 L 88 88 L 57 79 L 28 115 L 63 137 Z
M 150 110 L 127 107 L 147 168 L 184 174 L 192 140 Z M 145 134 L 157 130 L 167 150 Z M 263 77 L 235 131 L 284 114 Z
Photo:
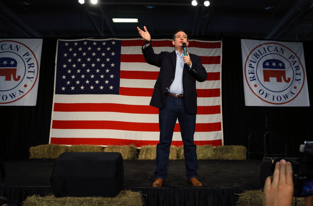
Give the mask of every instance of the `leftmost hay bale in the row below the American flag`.
M 47 144 L 47 145 L 39 145 L 36 147 L 30 147 L 29 158 L 58 158 L 63 152 L 68 152 L 69 147 L 64 145 L 54 145 L 54 144 Z

